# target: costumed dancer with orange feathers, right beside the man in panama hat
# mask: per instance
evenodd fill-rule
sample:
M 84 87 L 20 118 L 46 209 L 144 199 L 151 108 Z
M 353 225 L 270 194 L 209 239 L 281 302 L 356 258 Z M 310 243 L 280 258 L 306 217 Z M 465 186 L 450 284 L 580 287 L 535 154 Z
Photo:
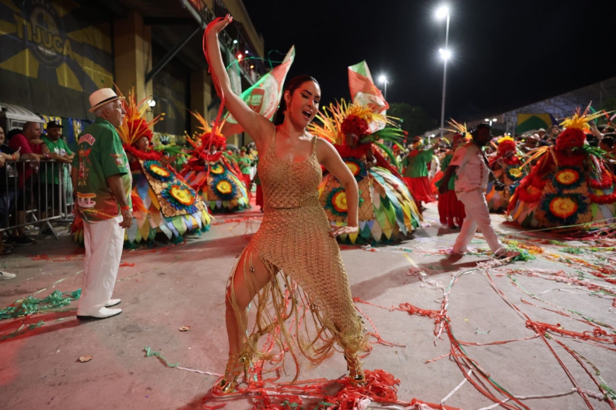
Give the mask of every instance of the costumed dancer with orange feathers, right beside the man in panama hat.
M 161 120 L 145 120 L 147 99 L 137 103 L 134 90 L 124 101 L 126 120 L 118 128 L 132 173 L 134 223 L 126 231 L 131 245 L 153 242 L 156 232 L 174 243 L 184 242 L 190 232 L 209 231 L 211 216 L 201 197 L 177 173 L 171 163 L 184 153 L 177 146 L 150 149 L 152 127 Z M 165 156 L 164 154 L 171 155 Z

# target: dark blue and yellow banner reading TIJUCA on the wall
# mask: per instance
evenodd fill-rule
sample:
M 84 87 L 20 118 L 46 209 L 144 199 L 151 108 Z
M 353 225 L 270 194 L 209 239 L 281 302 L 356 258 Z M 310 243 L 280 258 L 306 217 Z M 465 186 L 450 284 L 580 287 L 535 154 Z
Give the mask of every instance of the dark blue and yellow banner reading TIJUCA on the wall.
M 113 87 L 111 26 L 71 0 L 0 0 L 2 102 L 85 118 L 87 97 Z

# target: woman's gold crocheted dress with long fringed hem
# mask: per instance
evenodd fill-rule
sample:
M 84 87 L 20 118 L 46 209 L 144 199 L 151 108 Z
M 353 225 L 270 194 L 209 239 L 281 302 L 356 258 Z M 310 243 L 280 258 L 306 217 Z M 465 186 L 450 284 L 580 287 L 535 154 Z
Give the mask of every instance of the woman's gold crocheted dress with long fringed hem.
M 265 156 L 259 161 L 265 199 L 261 227 L 244 250 L 246 258 L 234 275 L 252 281 L 251 260 L 258 256 L 269 270 L 267 284 L 253 300 L 256 323 L 248 334 L 249 355 L 253 363 L 268 358 L 257 343 L 269 334 L 270 344 L 291 354 L 299 373 L 299 354 L 316 366 L 334 351 L 338 343 L 351 357 L 366 349 L 363 322 L 355 310 L 349 280 L 336 239 L 318 201 L 322 179 L 317 160 L 317 139 L 312 154 L 304 162 L 286 162 L 275 154 L 275 133 Z M 238 259 L 241 261 L 242 258 Z M 236 316 L 239 310 L 233 286 L 231 301 Z M 246 324 L 244 324 L 246 326 Z

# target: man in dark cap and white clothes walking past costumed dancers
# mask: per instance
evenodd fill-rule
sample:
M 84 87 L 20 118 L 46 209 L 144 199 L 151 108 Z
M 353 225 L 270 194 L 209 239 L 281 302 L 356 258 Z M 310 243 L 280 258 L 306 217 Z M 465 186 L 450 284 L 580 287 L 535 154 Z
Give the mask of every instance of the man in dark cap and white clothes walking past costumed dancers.
M 520 254 L 519 251 L 508 250 L 500 242 L 492 226 L 488 203 L 485 201 L 485 187 L 488 184 L 490 168 L 483 148 L 490 142 L 491 129 L 488 124 L 477 125 L 471 132 L 472 141 L 456 149 L 440 184 L 439 194 L 448 191 L 450 178 L 455 174 L 455 191 L 460 201 L 464 203 L 466 218 L 453 245 L 453 253 L 467 253 L 468 245 L 479 227 L 496 258 L 514 258 Z M 496 183 L 498 184 L 498 181 Z

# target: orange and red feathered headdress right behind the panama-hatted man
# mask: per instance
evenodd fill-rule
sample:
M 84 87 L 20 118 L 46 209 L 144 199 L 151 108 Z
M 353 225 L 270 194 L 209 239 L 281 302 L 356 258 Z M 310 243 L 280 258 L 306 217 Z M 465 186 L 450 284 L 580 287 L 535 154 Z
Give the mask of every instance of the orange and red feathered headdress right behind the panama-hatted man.
M 116 89 L 118 89 L 117 86 Z M 118 94 L 122 95 L 119 89 Z M 152 141 L 152 136 L 154 135 L 152 128 L 154 124 L 163 120 L 164 113 L 159 114 L 150 121 L 145 119 L 145 112 L 150 108 L 147 104 L 149 99 L 150 97 L 146 97 L 137 103 L 135 87 L 132 87 L 128 92 L 128 97 L 122 100 L 122 107 L 126 111 L 126 116 L 124 116 L 122 125 L 117 129 L 125 146 L 131 146 L 142 136 L 146 136 L 148 141 Z

